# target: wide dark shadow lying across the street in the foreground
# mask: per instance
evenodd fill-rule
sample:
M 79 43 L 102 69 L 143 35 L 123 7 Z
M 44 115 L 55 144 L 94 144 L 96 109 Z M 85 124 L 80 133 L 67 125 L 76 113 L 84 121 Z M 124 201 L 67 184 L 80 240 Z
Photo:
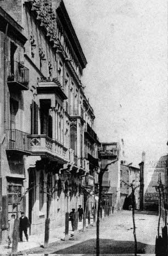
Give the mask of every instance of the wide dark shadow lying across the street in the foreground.
M 154 253 L 155 246 L 151 244 L 145 244 L 138 242 L 138 250 L 145 253 Z M 77 243 L 65 249 L 61 249 L 57 254 L 93 254 L 96 253 L 96 239 L 86 240 L 81 243 Z M 134 242 L 133 241 L 115 241 L 111 239 L 100 239 L 100 253 L 111 254 L 111 253 L 134 253 Z

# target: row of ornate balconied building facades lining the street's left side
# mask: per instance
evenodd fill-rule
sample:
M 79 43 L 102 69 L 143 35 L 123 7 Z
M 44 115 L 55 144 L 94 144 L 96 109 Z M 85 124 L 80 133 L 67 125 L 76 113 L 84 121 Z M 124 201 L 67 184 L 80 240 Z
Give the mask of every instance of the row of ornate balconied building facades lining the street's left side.
M 24 210 L 33 234 L 46 218 L 54 228 L 71 208 L 92 208 L 99 141 L 81 83 L 87 61 L 64 2 L 0 5 L 3 232 Z

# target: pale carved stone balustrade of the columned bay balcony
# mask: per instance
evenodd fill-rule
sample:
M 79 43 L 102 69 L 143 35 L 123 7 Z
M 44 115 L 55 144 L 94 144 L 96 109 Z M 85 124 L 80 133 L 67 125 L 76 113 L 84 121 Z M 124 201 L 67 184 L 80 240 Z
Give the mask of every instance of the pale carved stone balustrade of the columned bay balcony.
M 69 162 L 68 149 L 46 135 L 30 135 L 30 148 L 32 153 L 47 154 Z

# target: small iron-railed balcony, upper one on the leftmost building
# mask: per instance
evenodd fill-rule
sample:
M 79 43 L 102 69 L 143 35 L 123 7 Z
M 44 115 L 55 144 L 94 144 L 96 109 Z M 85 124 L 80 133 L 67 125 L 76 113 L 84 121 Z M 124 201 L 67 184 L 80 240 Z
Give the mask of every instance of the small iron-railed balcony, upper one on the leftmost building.
M 29 90 L 29 69 L 20 62 L 8 62 L 8 86 L 13 90 Z

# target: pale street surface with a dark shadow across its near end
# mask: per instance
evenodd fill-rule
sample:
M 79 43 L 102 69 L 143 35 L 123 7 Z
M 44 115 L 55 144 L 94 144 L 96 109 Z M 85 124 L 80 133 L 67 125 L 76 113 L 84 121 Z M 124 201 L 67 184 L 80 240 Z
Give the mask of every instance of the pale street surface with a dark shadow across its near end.
M 136 214 L 138 249 L 141 250 L 138 255 L 141 255 L 143 250 L 145 250 L 145 254 L 154 255 L 157 222 L 158 216 Z M 130 211 L 115 212 L 102 220 L 100 224 L 100 254 L 133 254 L 132 227 L 132 212 Z M 84 232 L 79 231 L 72 241 L 57 241 L 49 244 L 47 249 L 36 247 L 22 253 L 95 254 L 96 225 Z

